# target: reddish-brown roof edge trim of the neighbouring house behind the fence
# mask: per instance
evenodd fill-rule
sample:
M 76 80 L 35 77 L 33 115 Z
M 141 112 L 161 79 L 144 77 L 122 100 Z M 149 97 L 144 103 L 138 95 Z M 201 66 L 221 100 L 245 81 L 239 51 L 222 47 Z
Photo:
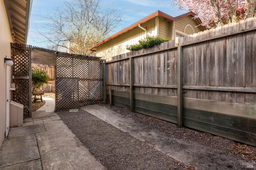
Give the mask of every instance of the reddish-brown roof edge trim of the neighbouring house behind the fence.
M 111 35 L 110 37 L 108 37 L 108 38 L 100 41 L 99 43 L 93 45 L 92 47 L 89 48 L 89 50 L 95 51 L 95 50 L 93 50 L 95 47 L 98 47 L 99 45 L 105 43 L 106 41 L 109 41 L 110 39 L 118 37 L 122 33 L 125 33 L 126 31 L 128 31 L 128 30 L 130 30 L 130 29 L 132 29 L 134 27 L 138 27 L 139 24 L 142 24 L 142 23 L 144 23 L 144 22 L 146 22 L 146 21 L 148 21 L 148 20 L 150 20 L 150 19 L 152 19 L 152 18 L 154 18 L 156 16 L 160 16 L 162 18 L 165 18 L 166 20 L 176 21 L 176 20 L 179 20 L 180 18 L 184 18 L 184 17 L 189 16 L 189 15 L 192 15 L 193 17 L 196 16 L 196 14 L 194 14 L 193 12 L 188 12 L 186 14 L 182 14 L 182 15 L 177 16 L 177 17 L 172 17 L 172 16 L 169 16 L 168 14 L 165 14 L 164 12 L 161 12 L 161 11 L 158 10 L 158 11 L 154 12 L 153 14 L 150 14 L 149 16 L 143 18 L 142 20 L 140 20 L 140 21 L 130 25 L 129 27 L 126 27 L 125 29 L 122 29 L 121 31 L 115 33 L 114 35 Z M 196 20 L 198 20 L 198 22 L 200 24 L 202 23 L 202 21 L 199 18 L 196 18 Z M 206 30 L 205 27 L 202 26 L 202 28 L 204 30 Z

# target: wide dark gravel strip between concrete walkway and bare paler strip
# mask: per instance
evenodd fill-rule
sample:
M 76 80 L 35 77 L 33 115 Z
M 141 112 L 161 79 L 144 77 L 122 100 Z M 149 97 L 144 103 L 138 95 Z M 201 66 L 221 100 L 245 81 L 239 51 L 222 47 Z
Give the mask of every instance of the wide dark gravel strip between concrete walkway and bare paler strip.
M 86 111 L 56 113 L 108 170 L 192 169 Z

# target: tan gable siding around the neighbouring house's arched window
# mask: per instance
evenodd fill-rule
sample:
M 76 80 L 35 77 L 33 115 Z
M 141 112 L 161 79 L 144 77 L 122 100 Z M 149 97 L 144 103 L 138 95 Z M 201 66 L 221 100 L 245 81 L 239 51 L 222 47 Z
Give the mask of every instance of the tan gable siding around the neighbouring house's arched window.
M 199 25 L 199 22 L 191 18 L 192 16 L 187 16 L 187 17 L 181 18 L 180 20 L 174 21 L 175 22 L 174 29 L 184 32 L 185 26 L 187 24 L 190 24 L 193 27 L 195 33 L 203 31 L 202 27 L 196 27 L 197 25 Z

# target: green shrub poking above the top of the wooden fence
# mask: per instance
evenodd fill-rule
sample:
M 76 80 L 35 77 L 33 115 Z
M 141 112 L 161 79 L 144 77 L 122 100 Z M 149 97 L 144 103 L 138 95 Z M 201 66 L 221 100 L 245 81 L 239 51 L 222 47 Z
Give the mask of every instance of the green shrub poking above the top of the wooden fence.
M 155 45 L 161 44 L 163 42 L 170 41 L 168 38 L 162 38 L 159 36 L 148 36 L 144 39 L 139 40 L 138 44 L 126 45 L 126 49 L 130 51 L 136 51 L 148 47 L 154 47 Z

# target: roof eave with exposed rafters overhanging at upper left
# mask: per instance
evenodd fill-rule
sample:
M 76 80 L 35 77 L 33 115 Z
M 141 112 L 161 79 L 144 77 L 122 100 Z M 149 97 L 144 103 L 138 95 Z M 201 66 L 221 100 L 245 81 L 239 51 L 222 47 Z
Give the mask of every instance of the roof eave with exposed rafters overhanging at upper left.
M 32 0 L 4 0 L 14 43 L 26 44 Z

